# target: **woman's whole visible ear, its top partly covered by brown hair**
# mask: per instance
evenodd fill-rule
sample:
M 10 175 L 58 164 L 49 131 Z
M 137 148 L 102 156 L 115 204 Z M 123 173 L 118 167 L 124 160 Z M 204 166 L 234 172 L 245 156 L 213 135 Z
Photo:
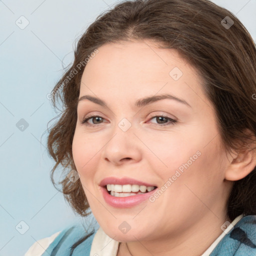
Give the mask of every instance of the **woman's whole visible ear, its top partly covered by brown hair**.
M 245 134 L 255 139 L 252 131 L 246 129 Z M 256 166 L 256 143 L 248 143 L 246 150 L 235 151 L 230 153 L 229 164 L 225 170 L 225 179 L 239 180 L 248 175 Z

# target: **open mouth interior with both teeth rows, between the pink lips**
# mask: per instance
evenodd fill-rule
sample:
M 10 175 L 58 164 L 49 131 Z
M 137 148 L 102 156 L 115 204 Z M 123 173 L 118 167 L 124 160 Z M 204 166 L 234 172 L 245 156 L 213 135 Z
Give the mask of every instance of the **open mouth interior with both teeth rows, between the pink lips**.
M 133 196 L 136 194 L 145 194 L 157 188 L 157 186 L 145 186 L 137 184 L 107 184 L 104 186 L 108 194 L 115 197 Z

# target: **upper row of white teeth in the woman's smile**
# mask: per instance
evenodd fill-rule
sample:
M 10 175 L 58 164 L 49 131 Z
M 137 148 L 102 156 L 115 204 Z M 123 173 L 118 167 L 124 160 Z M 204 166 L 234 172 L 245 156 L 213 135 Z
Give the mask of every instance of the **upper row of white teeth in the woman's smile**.
M 152 191 L 154 189 L 154 186 L 144 186 L 144 185 L 136 185 L 136 184 L 125 184 L 125 185 L 107 184 L 106 189 L 107 189 L 107 191 L 118 192 L 118 193 L 120 193 L 120 192 L 130 193 L 130 192 L 138 192 L 138 191 L 145 193 L 146 190 L 148 192 Z M 111 192 L 110 192 L 110 194 L 112 195 Z M 116 196 L 118 196 L 118 195 L 116 195 Z

